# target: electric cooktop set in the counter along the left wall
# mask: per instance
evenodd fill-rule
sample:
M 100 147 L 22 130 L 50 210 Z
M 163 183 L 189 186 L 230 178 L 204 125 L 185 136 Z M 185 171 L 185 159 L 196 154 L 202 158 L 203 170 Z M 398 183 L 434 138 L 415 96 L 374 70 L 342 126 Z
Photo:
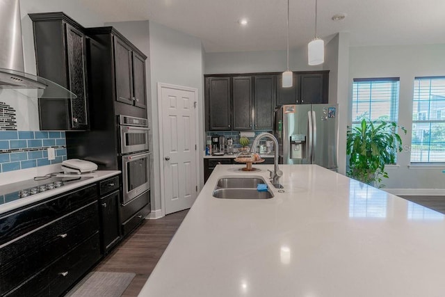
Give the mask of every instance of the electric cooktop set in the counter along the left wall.
M 90 178 L 92 177 L 48 177 L 45 179 L 27 179 L 22 182 L 6 184 L 0 186 L 0 204 L 26 198 L 45 191 L 51 191 L 54 188 L 60 188 Z

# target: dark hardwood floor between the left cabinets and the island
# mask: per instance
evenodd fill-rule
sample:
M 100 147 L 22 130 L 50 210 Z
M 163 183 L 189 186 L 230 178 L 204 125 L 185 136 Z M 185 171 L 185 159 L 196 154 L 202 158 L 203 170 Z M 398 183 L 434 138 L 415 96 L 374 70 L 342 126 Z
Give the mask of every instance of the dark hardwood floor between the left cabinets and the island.
M 157 220 L 144 220 L 94 271 L 136 273 L 122 297 L 138 296 L 187 212 L 178 211 Z

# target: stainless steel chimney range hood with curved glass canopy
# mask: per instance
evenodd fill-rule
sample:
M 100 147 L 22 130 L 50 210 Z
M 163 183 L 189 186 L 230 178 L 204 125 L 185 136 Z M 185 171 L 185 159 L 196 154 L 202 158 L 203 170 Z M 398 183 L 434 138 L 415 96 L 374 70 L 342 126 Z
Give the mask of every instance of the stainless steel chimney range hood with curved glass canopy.
M 0 0 L 0 91 L 13 89 L 27 97 L 75 99 L 63 86 L 24 72 L 19 0 Z

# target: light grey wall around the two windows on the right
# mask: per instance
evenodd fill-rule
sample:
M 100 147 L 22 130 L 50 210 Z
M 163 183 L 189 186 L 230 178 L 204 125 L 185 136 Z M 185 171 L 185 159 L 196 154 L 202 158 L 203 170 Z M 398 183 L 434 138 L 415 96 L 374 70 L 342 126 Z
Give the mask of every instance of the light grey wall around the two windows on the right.
M 410 166 L 412 96 L 414 77 L 445 75 L 445 45 L 400 45 L 351 47 L 349 89 L 354 78 L 400 77 L 399 124 L 407 128 L 401 135 L 405 150 L 398 154 L 396 167 L 389 167 L 387 188 L 445 188 L 444 166 Z M 349 96 L 351 100 L 351 96 Z M 348 122 L 351 115 L 348 114 Z M 391 190 L 389 190 L 391 191 Z M 397 193 L 397 191 L 394 191 Z M 405 192 L 406 193 L 406 192 Z M 416 192 L 419 193 L 419 192 Z M 421 193 L 419 193 L 421 194 Z

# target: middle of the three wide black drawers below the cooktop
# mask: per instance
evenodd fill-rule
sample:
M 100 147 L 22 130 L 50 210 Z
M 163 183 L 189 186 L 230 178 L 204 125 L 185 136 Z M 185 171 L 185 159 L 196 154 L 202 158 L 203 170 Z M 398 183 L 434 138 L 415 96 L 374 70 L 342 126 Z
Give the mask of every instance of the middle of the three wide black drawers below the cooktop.
M 97 201 L 0 248 L 0 295 L 99 230 Z

